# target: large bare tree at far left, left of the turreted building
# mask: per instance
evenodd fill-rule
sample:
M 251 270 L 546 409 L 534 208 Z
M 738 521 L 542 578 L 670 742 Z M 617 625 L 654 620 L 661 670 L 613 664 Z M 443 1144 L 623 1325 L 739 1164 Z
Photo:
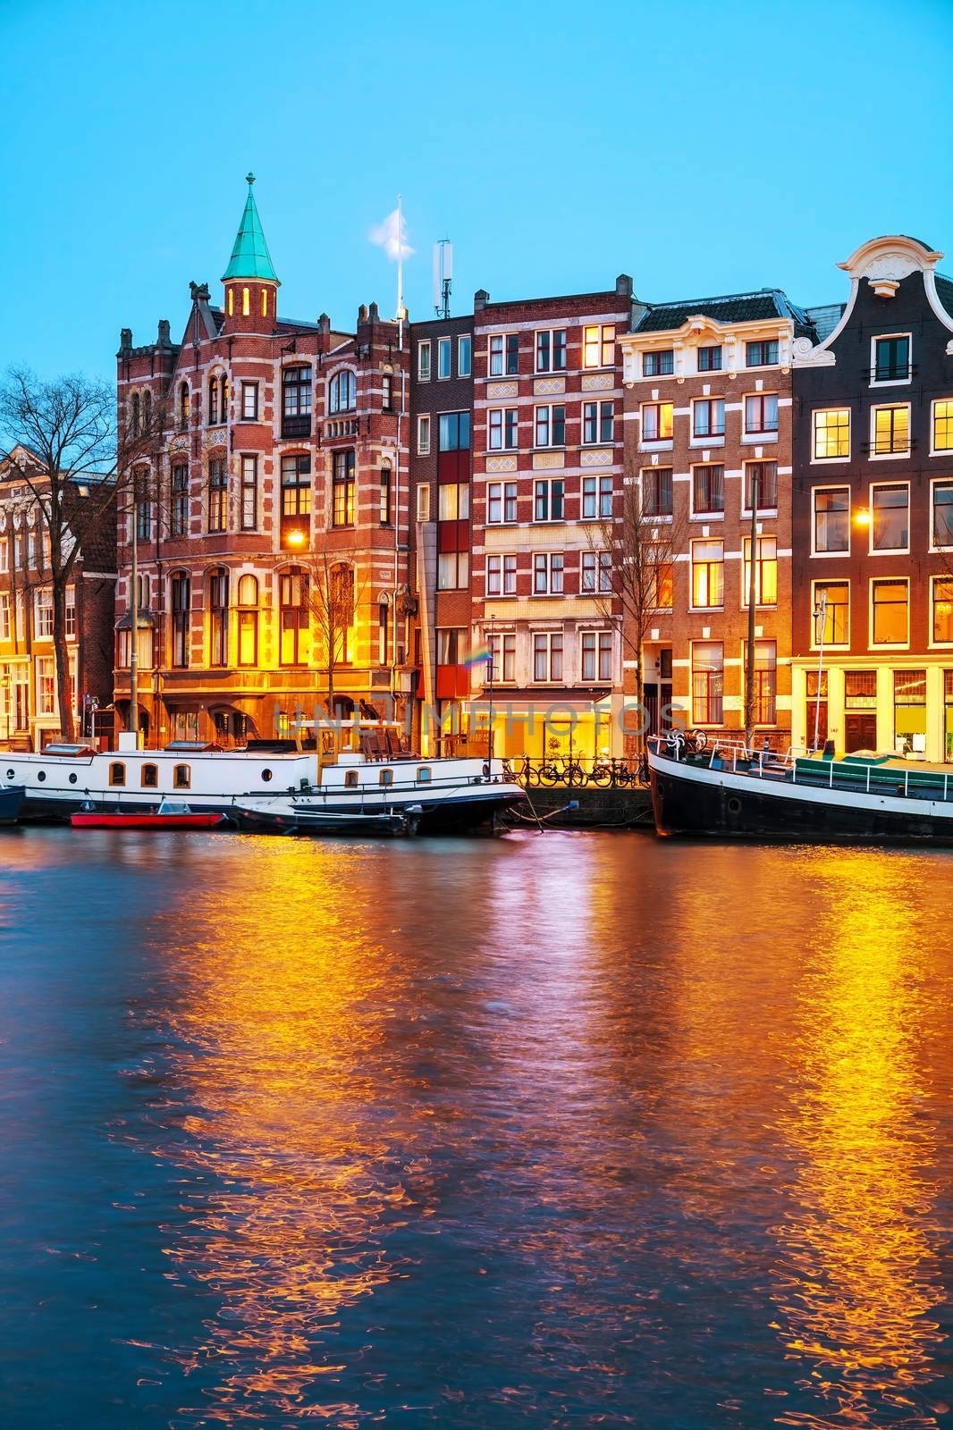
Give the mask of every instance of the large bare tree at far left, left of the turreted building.
M 82 373 L 47 382 L 29 368 L 10 368 L 0 385 L 0 430 L 11 446 L 36 458 L 20 476 L 49 536 L 60 734 L 73 739 L 67 586 L 79 553 L 114 522 L 133 465 L 157 449 L 162 410 L 150 403 L 135 419 L 123 413 L 117 425 L 116 396 L 107 383 Z

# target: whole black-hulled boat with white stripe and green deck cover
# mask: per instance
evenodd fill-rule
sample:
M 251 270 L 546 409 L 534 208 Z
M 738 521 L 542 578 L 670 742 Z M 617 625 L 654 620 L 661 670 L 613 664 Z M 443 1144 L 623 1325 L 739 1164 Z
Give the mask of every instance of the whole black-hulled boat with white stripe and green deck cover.
M 953 768 L 856 751 L 748 751 L 674 731 L 648 742 L 658 834 L 953 844 Z

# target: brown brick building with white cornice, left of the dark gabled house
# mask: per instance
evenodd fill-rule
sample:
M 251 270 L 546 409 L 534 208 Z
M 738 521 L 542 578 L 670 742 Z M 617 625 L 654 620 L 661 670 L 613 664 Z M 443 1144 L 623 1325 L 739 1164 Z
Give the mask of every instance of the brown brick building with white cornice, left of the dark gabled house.
M 788 742 L 790 373 L 803 333 L 807 315 L 764 289 L 651 305 L 621 340 L 641 539 L 673 558 L 644 648 L 655 731 L 670 702 L 691 726 L 744 729 L 754 490 L 756 724 Z

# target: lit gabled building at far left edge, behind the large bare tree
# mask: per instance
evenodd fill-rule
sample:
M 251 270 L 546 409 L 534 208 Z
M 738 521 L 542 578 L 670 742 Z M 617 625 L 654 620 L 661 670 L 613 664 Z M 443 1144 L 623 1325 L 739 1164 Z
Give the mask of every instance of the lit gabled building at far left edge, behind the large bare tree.
M 0 741 L 39 749 L 60 731 L 53 654 L 50 541 L 37 511 L 43 466 L 17 446 L 0 462 Z M 64 483 L 66 500 L 82 503 L 89 476 Z M 112 625 L 116 589 L 112 521 L 97 525 L 79 552 L 66 592 L 73 714 L 90 698 L 112 701 Z

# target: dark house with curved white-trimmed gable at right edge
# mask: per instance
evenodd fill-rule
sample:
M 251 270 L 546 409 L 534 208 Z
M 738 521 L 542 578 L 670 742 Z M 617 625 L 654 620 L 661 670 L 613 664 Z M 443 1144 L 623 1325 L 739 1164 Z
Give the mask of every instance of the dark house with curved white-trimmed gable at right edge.
M 794 345 L 793 726 L 953 761 L 953 282 L 907 237 Z M 823 628 L 816 615 L 826 612 Z M 818 702 L 818 664 L 820 676 Z

